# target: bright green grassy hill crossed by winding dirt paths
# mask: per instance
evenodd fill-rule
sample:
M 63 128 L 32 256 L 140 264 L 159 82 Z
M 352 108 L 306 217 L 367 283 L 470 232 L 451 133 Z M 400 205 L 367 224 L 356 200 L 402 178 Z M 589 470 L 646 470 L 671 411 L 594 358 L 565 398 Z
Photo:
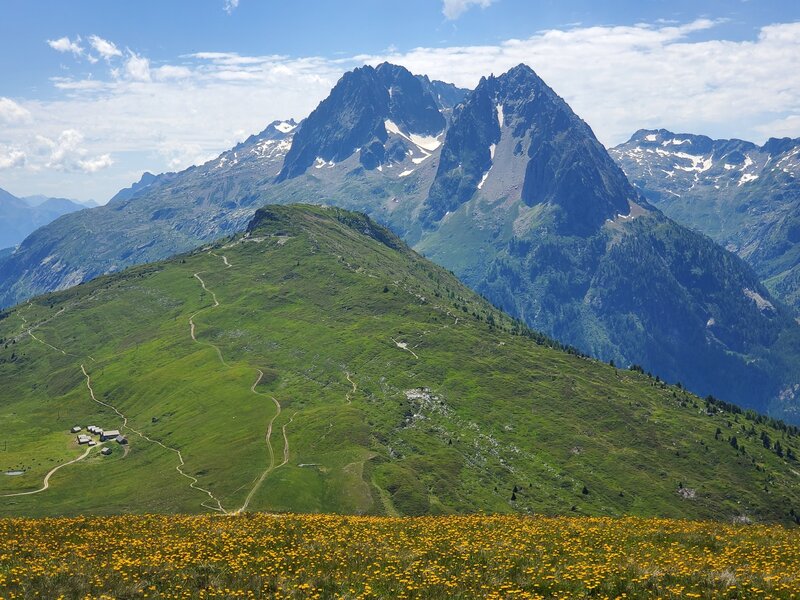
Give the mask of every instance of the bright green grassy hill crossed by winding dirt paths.
M 795 520 L 796 430 L 531 336 L 362 215 L 262 209 L 2 315 L 0 515 Z M 85 454 L 75 424 L 130 443 L 8 496 Z

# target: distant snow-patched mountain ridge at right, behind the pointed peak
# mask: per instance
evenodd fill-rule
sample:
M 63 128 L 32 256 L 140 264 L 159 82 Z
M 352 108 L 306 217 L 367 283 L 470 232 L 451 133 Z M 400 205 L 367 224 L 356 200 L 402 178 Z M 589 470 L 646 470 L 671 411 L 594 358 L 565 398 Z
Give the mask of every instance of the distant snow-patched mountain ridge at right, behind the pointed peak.
M 800 138 L 757 146 L 640 130 L 610 152 L 650 202 L 738 254 L 800 309 Z

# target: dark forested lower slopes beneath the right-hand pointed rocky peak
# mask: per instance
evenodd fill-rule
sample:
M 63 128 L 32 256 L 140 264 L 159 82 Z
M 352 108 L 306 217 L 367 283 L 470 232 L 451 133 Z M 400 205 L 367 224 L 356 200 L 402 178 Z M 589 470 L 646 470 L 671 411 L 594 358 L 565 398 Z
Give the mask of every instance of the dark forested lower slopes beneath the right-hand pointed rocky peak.
M 742 261 L 658 212 L 589 236 L 557 211 L 473 200 L 416 249 L 539 331 L 687 389 L 800 423 L 800 327 Z M 758 298 L 756 302 L 754 298 Z

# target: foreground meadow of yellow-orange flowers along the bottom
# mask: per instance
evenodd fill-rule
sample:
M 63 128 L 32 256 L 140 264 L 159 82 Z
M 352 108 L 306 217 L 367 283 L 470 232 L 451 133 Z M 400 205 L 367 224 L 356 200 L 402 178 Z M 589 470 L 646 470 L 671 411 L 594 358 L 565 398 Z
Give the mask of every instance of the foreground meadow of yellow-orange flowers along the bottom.
M 800 598 L 800 529 L 641 518 L 0 520 L 0 598 Z

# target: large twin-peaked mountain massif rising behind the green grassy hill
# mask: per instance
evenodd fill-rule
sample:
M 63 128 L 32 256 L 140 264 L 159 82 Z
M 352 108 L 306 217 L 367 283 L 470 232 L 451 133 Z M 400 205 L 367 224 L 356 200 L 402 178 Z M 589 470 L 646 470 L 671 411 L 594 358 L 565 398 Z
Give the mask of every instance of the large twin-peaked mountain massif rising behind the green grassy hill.
M 0 263 L 0 299 L 185 252 L 293 202 L 370 215 L 562 343 L 800 420 L 792 311 L 649 202 L 525 65 L 472 91 L 386 63 L 346 73 L 302 122 L 36 231 Z

